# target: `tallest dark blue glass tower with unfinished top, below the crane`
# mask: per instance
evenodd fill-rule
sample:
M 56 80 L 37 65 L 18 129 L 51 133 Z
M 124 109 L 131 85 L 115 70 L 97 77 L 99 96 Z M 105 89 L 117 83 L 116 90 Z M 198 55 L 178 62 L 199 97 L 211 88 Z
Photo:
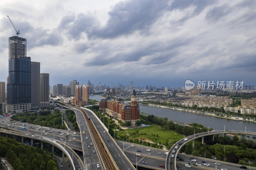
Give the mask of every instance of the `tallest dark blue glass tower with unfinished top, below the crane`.
M 28 112 L 31 108 L 31 60 L 27 57 L 27 39 L 9 37 L 9 82 L 7 113 Z

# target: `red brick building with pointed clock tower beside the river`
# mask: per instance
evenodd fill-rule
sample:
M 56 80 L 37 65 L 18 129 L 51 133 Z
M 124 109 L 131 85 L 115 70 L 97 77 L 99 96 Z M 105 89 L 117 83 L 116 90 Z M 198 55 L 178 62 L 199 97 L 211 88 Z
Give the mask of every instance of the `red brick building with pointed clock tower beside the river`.
M 122 120 L 123 122 L 131 122 L 132 126 L 135 126 L 136 122 L 140 120 L 140 107 L 137 104 L 137 96 L 134 88 L 131 95 L 131 103 L 124 103 L 124 100 L 119 97 L 112 100 L 107 93 L 106 99 L 100 100 L 100 109 L 113 118 Z

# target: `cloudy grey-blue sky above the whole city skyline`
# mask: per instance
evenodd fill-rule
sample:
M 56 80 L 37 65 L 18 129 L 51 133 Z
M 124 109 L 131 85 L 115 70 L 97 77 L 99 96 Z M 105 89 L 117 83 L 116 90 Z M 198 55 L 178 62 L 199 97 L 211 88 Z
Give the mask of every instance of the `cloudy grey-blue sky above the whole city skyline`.
M 7 15 L 50 85 L 184 86 L 186 79 L 256 85 L 256 1 L 0 1 L 0 81 Z

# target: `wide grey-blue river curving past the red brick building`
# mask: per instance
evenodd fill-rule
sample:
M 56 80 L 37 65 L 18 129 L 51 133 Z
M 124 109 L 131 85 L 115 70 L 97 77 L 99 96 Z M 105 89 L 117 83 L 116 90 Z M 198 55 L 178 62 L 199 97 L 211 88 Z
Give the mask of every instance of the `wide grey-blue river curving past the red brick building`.
M 89 99 L 98 100 L 102 99 L 99 97 L 100 95 L 89 96 Z M 146 106 L 140 105 L 140 112 L 147 113 L 150 115 L 155 115 L 158 117 L 167 117 L 168 120 L 187 123 L 198 123 L 202 124 L 205 127 L 210 127 L 214 130 L 242 130 L 245 131 L 256 131 L 256 123 L 255 122 L 247 122 L 247 121 L 236 121 L 221 117 L 215 117 L 210 115 L 203 115 L 191 112 L 184 112 L 179 110 L 154 107 L 154 106 Z

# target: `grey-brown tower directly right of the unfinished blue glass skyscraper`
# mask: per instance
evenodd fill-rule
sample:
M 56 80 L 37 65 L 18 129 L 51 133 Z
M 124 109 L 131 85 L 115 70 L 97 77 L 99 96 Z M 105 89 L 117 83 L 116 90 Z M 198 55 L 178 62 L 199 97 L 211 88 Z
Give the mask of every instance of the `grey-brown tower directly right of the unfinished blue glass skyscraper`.
M 40 63 L 31 62 L 31 109 L 40 106 Z

